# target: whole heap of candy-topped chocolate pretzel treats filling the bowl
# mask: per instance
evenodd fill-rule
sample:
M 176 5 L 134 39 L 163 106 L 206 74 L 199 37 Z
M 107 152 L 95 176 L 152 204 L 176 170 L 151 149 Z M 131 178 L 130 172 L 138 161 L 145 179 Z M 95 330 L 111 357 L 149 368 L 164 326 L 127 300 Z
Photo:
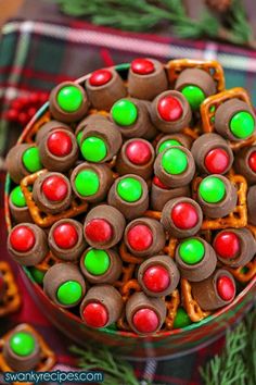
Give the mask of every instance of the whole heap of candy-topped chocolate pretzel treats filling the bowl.
M 89 327 L 207 318 L 256 273 L 255 119 L 215 61 L 60 84 L 7 157 L 11 256 Z

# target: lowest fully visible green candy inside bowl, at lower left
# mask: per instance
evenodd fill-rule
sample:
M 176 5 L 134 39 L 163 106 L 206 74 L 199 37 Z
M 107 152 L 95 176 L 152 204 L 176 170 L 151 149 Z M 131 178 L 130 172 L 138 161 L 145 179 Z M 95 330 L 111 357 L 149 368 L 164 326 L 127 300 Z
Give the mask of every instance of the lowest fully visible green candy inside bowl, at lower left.
M 62 305 L 74 305 L 81 298 L 81 285 L 76 281 L 67 281 L 62 284 L 57 291 L 56 298 Z

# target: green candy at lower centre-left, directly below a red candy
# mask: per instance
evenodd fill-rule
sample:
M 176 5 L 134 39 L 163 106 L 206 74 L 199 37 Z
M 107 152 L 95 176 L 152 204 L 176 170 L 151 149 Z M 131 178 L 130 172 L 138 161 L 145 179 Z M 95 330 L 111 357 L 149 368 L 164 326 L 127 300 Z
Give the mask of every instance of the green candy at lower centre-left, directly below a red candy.
M 84 263 L 90 274 L 102 275 L 107 272 L 111 261 L 106 251 L 91 249 L 87 252 Z

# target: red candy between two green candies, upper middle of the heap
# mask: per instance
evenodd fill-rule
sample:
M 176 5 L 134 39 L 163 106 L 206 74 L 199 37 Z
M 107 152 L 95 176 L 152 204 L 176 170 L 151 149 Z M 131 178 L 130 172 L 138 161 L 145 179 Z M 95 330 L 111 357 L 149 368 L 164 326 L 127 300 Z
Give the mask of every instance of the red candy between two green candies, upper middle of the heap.
M 133 140 L 126 148 L 126 156 L 131 163 L 146 164 L 152 157 L 150 146 L 142 140 Z

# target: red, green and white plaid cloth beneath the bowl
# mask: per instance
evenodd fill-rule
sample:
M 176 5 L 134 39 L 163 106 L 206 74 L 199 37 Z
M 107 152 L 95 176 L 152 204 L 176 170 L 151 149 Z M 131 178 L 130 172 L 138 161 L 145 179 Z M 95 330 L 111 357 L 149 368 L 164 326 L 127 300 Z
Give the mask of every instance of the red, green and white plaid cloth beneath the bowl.
M 172 58 L 216 59 L 225 67 L 227 87 L 247 88 L 256 102 L 256 52 L 218 45 L 212 41 L 180 41 L 168 37 L 121 33 L 110 28 L 71 21 L 59 25 L 46 22 L 13 20 L 4 25 L 0 41 L 0 156 L 16 140 L 18 129 L 3 119 L 11 100 L 29 92 L 48 91 L 56 83 L 74 79 L 92 70 L 129 62 L 136 57 L 154 57 L 167 61 Z M 0 165 L 1 166 L 1 165 Z M 7 260 L 3 213 L 4 172 L 0 172 L 0 259 Z M 0 333 L 20 322 L 29 322 L 57 353 L 55 369 L 68 370 L 76 360 L 68 352 L 72 345 L 37 309 L 26 293 L 15 264 L 17 283 L 23 295 L 18 314 L 0 320 Z M 201 384 L 199 367 L 204 364 L 223 346 L 223 338 L 185 358 L 132 362 L 137 377 L 153 384 Z M 185 362 L 185 364 L 184 364 Z M 125 380 L 124 380 L 125 383 Z

